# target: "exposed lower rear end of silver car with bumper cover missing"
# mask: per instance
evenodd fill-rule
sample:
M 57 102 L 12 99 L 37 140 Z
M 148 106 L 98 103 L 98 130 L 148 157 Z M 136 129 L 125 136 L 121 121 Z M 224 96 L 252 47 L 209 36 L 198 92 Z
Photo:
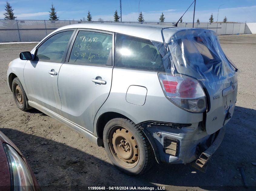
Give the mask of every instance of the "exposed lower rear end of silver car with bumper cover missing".
M 221 144 L 225 127 L 208 135 L 198 123 L 180 129 L 151 126 L 141 129 L 154 150 L 158 163 L 192 164 L 202 168 Z M 200 170 L 200 169 L 199 169 Z

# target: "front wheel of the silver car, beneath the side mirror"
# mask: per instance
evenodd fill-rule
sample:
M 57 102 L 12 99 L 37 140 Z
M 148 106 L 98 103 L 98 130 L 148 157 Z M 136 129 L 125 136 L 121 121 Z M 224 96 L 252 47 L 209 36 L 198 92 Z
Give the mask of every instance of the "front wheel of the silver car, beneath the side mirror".
M 23 89 L 23 86 L 19 78 L 14 78 L 12 81 L 12 94 L 15 100 L 15 103 L 19 109 L 22 111 L 30 109 L 28 106 L 28 98 Z

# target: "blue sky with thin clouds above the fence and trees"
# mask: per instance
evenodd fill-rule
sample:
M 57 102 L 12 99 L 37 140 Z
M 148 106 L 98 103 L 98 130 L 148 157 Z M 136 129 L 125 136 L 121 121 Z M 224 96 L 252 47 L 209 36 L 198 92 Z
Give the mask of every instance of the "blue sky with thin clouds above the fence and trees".
M 145 21 L 158 21 L 161 13 L 165 14 L 165 21 L 177 21 L 193 0 L 141 0 L 140 11 Z M 51 4 L 56 8 L 60 20 L 80 20 L 87 17 L 90 10 L 93 21 L 102 18 L 104 21 L 113 21 L 113 14 L 118 10 L 119 0 L 9 0 L 18 19 L 48 19 Z M 4 18 L 5 0 L 0 0 L 0 19 Z M 122 0 L 122 21 L 137 21 L 139 0 Z M 224 4 L 224 5 L 222 5 Z M 214 21 L 222 21 L 227 16 L 228 21 L 256 22 L 256 0 L 197 0 L 195 20 L 208 22 L 211 13 Z M 183 21 L 192 22 L 192 5 L 183 16 Z

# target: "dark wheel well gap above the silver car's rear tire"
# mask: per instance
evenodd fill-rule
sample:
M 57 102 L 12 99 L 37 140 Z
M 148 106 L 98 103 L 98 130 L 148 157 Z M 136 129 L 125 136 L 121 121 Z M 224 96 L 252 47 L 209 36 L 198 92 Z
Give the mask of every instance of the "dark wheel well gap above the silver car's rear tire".
M 97 121 L 97 125 L 96 125 L 96 129 L 97 129 L 97 134 L 99 136 L 99 138 L 103 139 L 103 130 L 105 125 L 111 120 L 111 119 L 115 119 L 115 118 L 124 118 L 124 119 L 129 119 L 128 117 L 120 114 L 120 113 L 116 113 L 116 112 L 106 112 L 103 113 L 98 121 Z M 130 119 L 129 119 L 130 120 Z

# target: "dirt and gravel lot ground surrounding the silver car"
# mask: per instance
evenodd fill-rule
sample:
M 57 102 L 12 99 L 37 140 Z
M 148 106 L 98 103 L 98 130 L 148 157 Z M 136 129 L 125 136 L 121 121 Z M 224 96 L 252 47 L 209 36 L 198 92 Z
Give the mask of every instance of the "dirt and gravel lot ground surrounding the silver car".
M 155 166 L 128 176 L 112 166 L 104 148 L 38 110 L 19 110 L 7 87 L 8 63 L 35 44 L 0 44 L 0 130 L 27 158 L 43 190 L 87 190 L 88 186 L 165 186 L 166 190 L 242 190 L 239 167 L 256 190 L 256 35 L 220 36 L 224 52 L 240 70 L 234 116 L 206 173 L 189 165 Z

